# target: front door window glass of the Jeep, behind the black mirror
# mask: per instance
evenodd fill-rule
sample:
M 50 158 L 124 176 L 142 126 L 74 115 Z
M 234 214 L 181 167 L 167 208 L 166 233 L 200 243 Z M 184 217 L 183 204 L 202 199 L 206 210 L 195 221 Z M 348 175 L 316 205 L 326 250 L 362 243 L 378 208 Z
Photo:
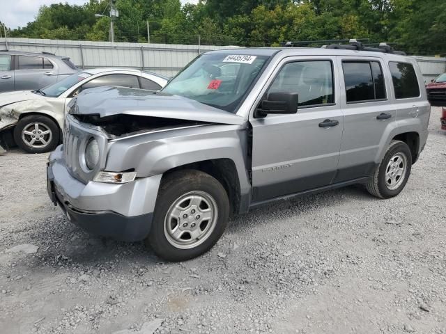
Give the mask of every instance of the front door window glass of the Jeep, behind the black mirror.
M 299 106 L 334 103 L 331 61 L 287 63 L 272 82 L 268 93 L 298 93 Z

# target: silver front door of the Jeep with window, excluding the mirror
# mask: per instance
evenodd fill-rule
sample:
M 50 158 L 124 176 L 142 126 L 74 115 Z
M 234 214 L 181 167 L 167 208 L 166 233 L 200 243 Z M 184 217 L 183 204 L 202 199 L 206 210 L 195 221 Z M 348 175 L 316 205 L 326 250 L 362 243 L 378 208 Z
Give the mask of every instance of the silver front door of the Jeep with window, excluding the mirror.
M 332 183 L 344 126 L 339 93 L 334 89 L 339 78 L 334 64 L 330 56 L 292 57 L 284 59 L 272 74 L 262 96 L 298 93 L 298 111 L 249 120 L 253 202 Z

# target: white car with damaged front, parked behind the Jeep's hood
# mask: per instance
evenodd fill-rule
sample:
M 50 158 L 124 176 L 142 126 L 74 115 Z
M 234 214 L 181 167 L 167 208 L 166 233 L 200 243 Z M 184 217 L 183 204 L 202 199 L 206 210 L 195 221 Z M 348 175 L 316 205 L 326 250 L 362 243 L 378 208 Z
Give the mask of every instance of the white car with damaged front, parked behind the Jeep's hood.
M 99 86 L 160 90 L 167 78 L 119 68 L 83 70 L 38 90 L 0 94 L 0 145 L 17 144 L 29 153 L 54 150 L 61 142 L 68 103 L 79 92 Z

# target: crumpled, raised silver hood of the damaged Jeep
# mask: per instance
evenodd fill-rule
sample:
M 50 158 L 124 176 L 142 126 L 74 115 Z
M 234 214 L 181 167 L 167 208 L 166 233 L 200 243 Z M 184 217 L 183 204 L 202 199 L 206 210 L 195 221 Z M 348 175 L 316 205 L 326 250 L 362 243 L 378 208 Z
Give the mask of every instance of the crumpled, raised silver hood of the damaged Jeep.
M 186 97 L 109 86 L 84 90 L 77 96 L 76 107 L 70 109 L 70 113 L 96 114 L 101 118 L 126 114 L 231 125 L 243 125 L 245 122 L 233 113 Z

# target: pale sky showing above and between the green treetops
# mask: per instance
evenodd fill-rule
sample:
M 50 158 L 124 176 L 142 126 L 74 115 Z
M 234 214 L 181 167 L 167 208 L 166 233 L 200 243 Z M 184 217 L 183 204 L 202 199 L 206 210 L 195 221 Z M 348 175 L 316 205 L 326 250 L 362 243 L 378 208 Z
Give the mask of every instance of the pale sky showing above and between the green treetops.
M 36 17 L 39 7 L 52 3 L 68 2 L 70 5 L 82 5 L 87 0 L 0 0 L 0 22 L 10 29 L 26 26 Z M 197 3 L 197 0 L 181 0 L 182 3 Z

